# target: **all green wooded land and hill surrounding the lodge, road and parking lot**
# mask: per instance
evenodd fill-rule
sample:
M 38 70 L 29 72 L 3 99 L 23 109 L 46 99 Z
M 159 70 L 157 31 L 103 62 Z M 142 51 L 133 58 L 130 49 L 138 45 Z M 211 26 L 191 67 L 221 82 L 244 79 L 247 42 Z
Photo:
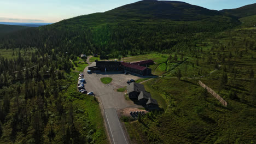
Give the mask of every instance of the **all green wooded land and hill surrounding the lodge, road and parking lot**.
M 82 53 L 156 59 L 150 68 L 162 77 L 144 85 L 164 111 L 122 118 L 132 142 L 255 143 L 256 13 L 238 19 L 168 4 L 142 1 L 0 35 L 0 143 L 108 143 L 98 101 L 76 90 L 88 65 Z M 197 85 L 200 76 L 228 107 Z

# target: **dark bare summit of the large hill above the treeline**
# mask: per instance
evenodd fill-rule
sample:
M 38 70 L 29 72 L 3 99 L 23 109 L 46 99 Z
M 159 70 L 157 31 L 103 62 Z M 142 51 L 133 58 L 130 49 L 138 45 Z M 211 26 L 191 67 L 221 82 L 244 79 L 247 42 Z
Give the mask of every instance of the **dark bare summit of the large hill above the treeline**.
M 178 1 L 139 1 L 106 11 L 106 15 L 116 15 L 122 19 L 167 19 L 173 21 L 196 21 L 224 14 Z

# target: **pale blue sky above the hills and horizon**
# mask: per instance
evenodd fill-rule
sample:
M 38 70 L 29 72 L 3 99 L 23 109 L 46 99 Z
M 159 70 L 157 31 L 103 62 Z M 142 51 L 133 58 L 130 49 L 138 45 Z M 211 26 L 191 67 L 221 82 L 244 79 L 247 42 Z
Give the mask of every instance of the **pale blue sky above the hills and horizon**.
M 137 0 L 138 1 L 138 0 Z M 57 22 L 71 17 L 111 10 L 136 0 L 1 0 L 1 22 Z M 182 1 L 182 0 L 181 0 Z M 232 9 L 256 0 L 183 0 L 208 9 Z

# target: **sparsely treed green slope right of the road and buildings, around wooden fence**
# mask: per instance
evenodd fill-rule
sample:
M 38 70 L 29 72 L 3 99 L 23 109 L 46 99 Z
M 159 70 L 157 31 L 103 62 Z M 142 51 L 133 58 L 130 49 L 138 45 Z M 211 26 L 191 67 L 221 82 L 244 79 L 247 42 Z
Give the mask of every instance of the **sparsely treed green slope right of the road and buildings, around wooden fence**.
M 255 143 L 255 39 L 255 28 L 234 29 L 195 42 L 198 48 L 195 53 L 147 55 L 149 59 L 161 57 L 161 61 L 156 60 L 150 66 L 154 74 L 158 74 L 155 71 L 162 63 L 167 64 L 165 77 L 143 83 L 154 99 L 164 99 L 165 104 L 161 101 L 159 105 L 165 111 L 124 121 L 131 141 Z M 136 56 L 136 61 L 144 57 Z M 177 79 L 178 71 L 181 80 Z M 227 75 L 225 82 L 223 75 Z M 199 80 L 224 98 L 228 106 L 205 92 L 198 85 Z

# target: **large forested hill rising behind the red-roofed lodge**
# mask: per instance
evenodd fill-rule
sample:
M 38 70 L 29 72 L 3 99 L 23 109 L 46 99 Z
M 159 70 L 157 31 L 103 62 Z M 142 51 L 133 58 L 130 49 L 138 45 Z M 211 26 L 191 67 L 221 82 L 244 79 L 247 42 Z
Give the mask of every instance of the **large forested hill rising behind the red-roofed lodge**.
M 200 32 L 219 32 L 239 23 L 219 11 L 188 3 L 139 1 L 105 13 L 78 16 L 8 35 L 0 47 L 55 47 L 75 55 L 104 51 L 112 58 L 172 49 L 187 41 L 188 34 L 193 37 Z M 13 43 L 6 39 L 13 39 Z

